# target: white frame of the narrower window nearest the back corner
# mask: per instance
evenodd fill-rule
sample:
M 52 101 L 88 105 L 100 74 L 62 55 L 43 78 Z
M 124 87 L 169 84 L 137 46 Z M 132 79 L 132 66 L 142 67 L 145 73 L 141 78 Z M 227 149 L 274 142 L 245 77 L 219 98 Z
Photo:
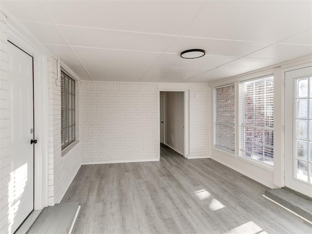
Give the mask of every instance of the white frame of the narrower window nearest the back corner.
M 225 147 L 222 147 L 222 146 L 219 146 L 219 145 L 216 145 L 216 90 L 219 89 L 219 88 L 225 88 L 225 87 L 229 87 L 229 86 L 234 86 L 234 98 L 233 98 L 233 101 L 234 101 L 234 112 L 233 112 L 233 117 L 234 117 L 234 149 L 233 151 L 225 148 Z M 214 149 L 217 150 L 217 151 L 221 151 L 222 153 L 225 153 L 225 154 L 228 154 L 229 156 L 236 156 L 236 83 L 235 82 L 232 82 L 232 83 L 229 83 L 229 84 L 225 84 L 225 85 L 219 85 L 219 86 L 215 86 L 214 87 L 214 93 L 213 93 L 213 98 L 214 98 Z

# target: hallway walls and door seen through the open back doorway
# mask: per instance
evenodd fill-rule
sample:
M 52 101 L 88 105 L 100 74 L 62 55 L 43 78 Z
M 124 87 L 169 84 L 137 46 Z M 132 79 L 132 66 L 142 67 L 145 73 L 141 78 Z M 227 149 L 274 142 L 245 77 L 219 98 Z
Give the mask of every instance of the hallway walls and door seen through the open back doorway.
M 159 142 L 180 155 L 187 157 L 186 91 L 160 91 L 159 93 Z

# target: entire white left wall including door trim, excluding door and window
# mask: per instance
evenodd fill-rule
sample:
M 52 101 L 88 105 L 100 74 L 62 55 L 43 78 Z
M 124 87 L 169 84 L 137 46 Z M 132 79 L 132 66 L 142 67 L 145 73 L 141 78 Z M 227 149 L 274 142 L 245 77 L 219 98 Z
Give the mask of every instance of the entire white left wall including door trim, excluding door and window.
M 60 90 L 56 85 L 56 59 L 16 19 L 0 12 L 0 233 L 11 233 L 14 215 L 10 212 L 10 96 L 7 82 L 7 39 L 34 57 L 35 209 L 58 203 L 81 165 L 81 143 L 67 154 L 60 145 Z M 47 62 L 47 57 L 49 57 Z M 59 85 L 59 83 L 58 83 Z M 79 89 L 79 82 L 77 83 Z M 79 92 L 78 92 L 79 93 Z M 78 104 L 78 101 L 77 101 Z M 79 113 L 78 113 L 79 114 Z M 77 126 L 79 128 L 79 124 Z M 79 129 L 78 129 L 79 130 Z M 79 133 L 79 131 L 77 131 Z

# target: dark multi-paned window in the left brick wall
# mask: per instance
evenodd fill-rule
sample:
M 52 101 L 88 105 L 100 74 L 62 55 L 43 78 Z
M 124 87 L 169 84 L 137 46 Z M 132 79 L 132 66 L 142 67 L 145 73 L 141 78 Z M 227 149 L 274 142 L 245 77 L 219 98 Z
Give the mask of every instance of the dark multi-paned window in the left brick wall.
M 75 141 L 75 80 L 61 71 L 61 145 Z

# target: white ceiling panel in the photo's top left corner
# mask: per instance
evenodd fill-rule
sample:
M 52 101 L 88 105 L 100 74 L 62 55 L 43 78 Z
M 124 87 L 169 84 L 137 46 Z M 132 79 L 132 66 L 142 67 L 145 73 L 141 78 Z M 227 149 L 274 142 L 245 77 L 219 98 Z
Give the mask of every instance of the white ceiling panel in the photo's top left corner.
M 1 4 L 18 20 L 52 23 L 38 1 L 1 0 Z

